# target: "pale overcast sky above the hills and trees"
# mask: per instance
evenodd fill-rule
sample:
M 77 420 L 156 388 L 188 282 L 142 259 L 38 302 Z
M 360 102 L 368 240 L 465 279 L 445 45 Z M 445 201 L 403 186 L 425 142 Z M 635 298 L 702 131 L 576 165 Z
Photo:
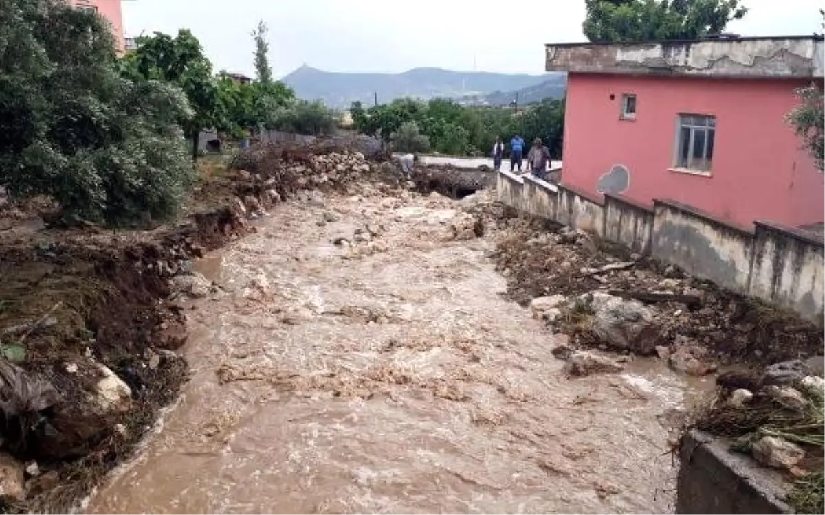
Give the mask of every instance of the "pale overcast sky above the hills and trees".
M 823 0 L 745 0 L 751 11 L 728 30 L 809 35 Z M 250 37 L 269 26 L 276 77 L 302 64 L 332 72 L 454 70 L 543 73 L 544 44 L 580 41 L 584 0 L 131 0 L 127 36 L 191 29 L 215 71 L 253 75 Z M 415 6 L 415 7 L 413 7 Z M 513 12 L 517 6 L 519 11 Z M 514 14 L 520 15 L 514 20 Z

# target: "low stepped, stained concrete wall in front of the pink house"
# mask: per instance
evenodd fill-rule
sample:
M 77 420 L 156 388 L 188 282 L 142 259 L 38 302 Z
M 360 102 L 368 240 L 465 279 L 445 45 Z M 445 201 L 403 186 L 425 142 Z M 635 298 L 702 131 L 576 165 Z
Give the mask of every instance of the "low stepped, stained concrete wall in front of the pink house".
M 648 208 L 616 194 L 595 199 L 503 171 L 497 185 L 502 204 L 532 217 L 592 232 L 825 325 L 825 241 L 807 232 L 770 222 L 752 232 L 670 200 Z

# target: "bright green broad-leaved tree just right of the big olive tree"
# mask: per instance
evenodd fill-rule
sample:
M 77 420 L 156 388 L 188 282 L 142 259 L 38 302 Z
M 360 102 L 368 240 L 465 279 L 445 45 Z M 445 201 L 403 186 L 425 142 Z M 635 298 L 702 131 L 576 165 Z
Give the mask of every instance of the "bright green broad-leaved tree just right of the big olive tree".
M 178 30 L 177 36 L 155 32 L 138 38 L 138 49 L 127 56 L 127 75 L 168 82 L 186 94 L 194 115 L 179 120 L 190 139 L 192 157 L 197 159 L 200 132 L 225 124 L 220 120 L 218 87 L 212 77 L 212 63 L 200 41 L 190 30 Z

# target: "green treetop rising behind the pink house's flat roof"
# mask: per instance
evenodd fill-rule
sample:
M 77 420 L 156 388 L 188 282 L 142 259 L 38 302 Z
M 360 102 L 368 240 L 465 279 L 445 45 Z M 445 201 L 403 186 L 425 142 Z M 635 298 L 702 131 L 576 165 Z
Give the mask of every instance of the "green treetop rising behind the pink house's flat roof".
M 740 0 L 585 0 L 588 40 L 696 40 L 747 14 Z

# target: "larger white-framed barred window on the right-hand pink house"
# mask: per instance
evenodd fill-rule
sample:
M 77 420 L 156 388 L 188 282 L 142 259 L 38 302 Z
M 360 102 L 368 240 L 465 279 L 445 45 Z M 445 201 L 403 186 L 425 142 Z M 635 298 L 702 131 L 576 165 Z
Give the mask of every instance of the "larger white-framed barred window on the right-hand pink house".
M 709 175 L 714 160 L 715 138 L 715 116 L 679 115 L 673 167 L 677 171 Z

